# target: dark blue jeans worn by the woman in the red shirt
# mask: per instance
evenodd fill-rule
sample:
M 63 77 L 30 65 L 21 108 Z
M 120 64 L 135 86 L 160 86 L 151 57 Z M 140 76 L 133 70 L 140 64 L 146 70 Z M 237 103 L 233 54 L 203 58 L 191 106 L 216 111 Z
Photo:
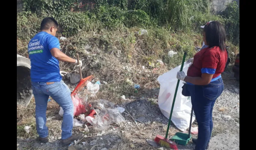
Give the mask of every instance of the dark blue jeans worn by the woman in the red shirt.
M 223 92 L 223 88 L 222 78 L 208 85 L 188 85 L 192 108 L 198 123 L 198 139 L 195 150 L 205 150 L 207 143 L 210 142 L 213 128 L 212 110 L 216 99 Z

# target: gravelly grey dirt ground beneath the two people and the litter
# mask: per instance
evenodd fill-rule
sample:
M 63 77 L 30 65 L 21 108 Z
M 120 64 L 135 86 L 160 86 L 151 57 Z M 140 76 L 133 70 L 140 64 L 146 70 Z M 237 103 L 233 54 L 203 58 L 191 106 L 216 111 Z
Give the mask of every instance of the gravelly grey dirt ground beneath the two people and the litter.
M 238 150 L 239 149 L 239 82 L 233 79 L 233 73 L 223 73 L 225 90 L 216 101 L 213 121 L 214 129 L 209 150 Z M 161 114 L 157 104 L 159 88 L 150 90 L 150 94 L 144 93 L 143 97 L 130 96 L 118 106 L 125 108 L 136 120 L 136 123 L 125 111 L 122 113 L 125 121 L 120 124 L 112 124 L 104 131 L 96 131 L 92 126 L 79 126 L 73 128 L 73 134 L 82 132 L 86 137 L 76 145 L 79 150 L 156 150 L 165 149 L 153 147 L 146 140 L 154 140 L 157 134 L 165 135 L 168 119 Z M 89 100 L 88 100 L 89 101 Z M 34 114 L 34 100 L 32 99 L 26 113 Z M 55 101 L 48 102 L 47 126 L 49 128 L 49 142 L 39 143 L 37 137 L 34 116 L 25 117 L 17 112 L 17 150 L 66 150 L 61 139 L 61 122 L 59 106 Z M 24 126 L 29 125 L 29 134 L 25 133 Z M 193 127 L 197 126 L 194 122 Z M 169 130 L 169 137 L 180 132 L 173 124 Z M 196 137 L 196 135 L 192 135 Z M 178 146 L 179 150 L 191 150 L 195 147 L 192 141 L 186 146 Z

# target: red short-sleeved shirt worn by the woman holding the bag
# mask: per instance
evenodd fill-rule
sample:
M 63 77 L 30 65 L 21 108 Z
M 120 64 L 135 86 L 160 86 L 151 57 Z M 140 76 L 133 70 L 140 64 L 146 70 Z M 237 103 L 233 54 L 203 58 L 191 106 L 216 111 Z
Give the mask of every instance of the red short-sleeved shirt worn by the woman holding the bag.
M 189 67 L 187 75 L 201 77 L 202 68 L 216 69 L 212 78 L 219 76 L 224 70 L 227 61 L 227 52 L 221 51 L 218 46 L 206 47 L 195 54 L 193 64 Z

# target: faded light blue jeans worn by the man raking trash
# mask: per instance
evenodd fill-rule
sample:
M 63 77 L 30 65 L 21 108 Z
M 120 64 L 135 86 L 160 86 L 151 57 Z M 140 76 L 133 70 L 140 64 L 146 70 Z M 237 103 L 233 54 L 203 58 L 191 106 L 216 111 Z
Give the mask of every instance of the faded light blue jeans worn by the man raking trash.
M 74 106 L 70 96 L 70 89 L 61 80 L 47 85 L 45 82 L 32 82 L 33 95 L 36 102 L 36 130 L 39 137 L 48 137 L 46 127 L 46 109 L 51 96 L 64 110 L 61 124 L 61 139 L 72 136 Z

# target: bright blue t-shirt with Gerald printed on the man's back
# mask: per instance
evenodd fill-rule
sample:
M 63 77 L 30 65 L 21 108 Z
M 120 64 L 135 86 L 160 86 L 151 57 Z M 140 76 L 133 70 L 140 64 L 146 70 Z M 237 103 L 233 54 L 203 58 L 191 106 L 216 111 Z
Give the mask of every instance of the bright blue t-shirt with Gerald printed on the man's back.
M 52 48 L 60 49 L 58 38 L 47 32 L 39 32 L 28 44 L 31 61 L 30 77 L 32 82 L 58 82 L 60 74 L 59 61 L 52 56 Z

